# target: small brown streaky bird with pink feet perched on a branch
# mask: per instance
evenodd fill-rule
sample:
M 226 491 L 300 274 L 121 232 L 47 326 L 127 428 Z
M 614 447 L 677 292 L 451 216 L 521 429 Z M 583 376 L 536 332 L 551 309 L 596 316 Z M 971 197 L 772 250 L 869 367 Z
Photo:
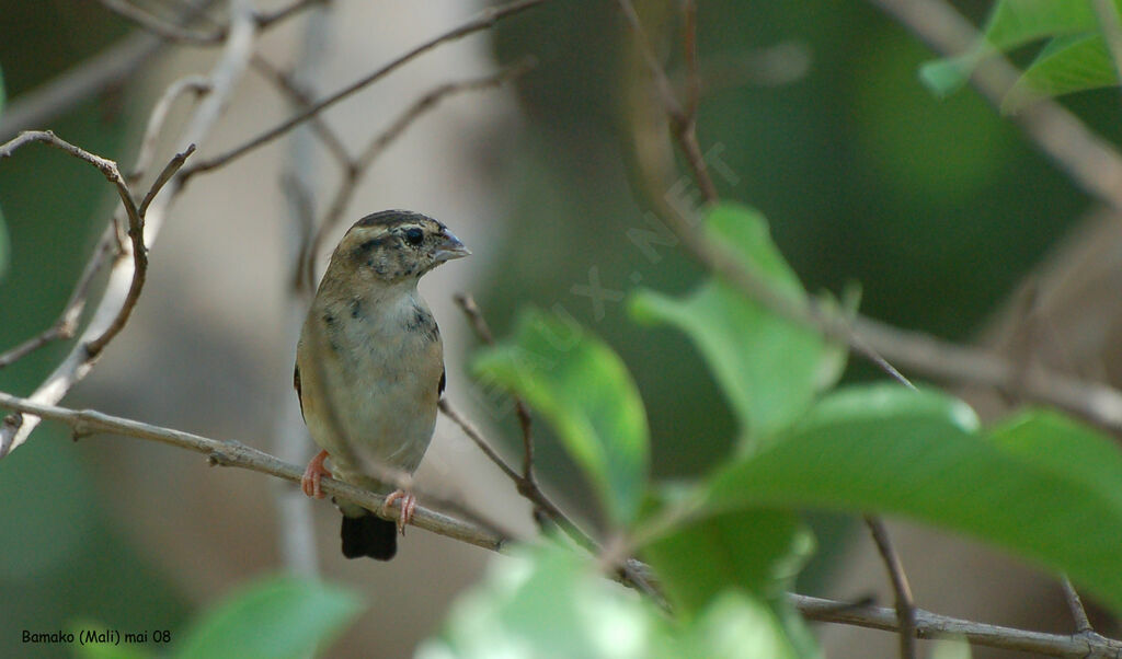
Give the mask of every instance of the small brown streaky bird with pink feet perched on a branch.
M 296 346 L 294 384 L 312 439 L 322 448 L 302 489 L 322 498 L 331 476 L 388 492 L 383 514 L 399 501 L 397 525 L 337 502 L 347 558 L 389 560 L 397 531 L 416 500 L 395 482 L 412 474 L 429 448 L 444 391 L 436 321 L 417 293 L 421 277 L 470 254 L 443 224 L 410 211 L 367 215 L 343 235 L 307 312 Z M 324 466 L 330 460 L 330 471 Z

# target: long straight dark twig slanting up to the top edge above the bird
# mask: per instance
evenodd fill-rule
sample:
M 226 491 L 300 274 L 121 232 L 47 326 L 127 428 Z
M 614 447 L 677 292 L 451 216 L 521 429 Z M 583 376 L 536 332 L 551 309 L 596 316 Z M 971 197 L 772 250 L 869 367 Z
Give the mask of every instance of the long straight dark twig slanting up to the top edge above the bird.
M 398 67 L 401 67 L 402 65 L 406 64 L 407 62 L 416 58 L 419 55 L 422 55 L 422 54 L 431 50 L 432 48 L 434 48 L 434 47 L 436 47 L 436 46 L 439 46 L 441 44 L 444 44 L 447 41 L 453 41 L 453 40 L 459 39 L 461 37 L 466 37 L 468 35 L 478 33 L 480 30 L 488 29 L 488 28 L 493 27 L 497 21 L 499 21 L 499 20 L 502 20 L 504 18 L 507 18 L 507 17 L 514 16 L 514 15 L 521 12 L 521 11 L 524 11 L 524 10 L 530 9 L 532 7 L 535 7 L 537 4 L 541 4 L 542 2 L 545 2 L 545 0 L 518 0 L 517 2 L 512 2 L 509 4 L 503 4 L 500 7 L 493 7 L 493 8 L 486 9 L 478 17 L 476 17 L 475 19 L 469 20 L 468 22 L 466 22 L 466 24 L 463 24 L 463 25 L 461 25 L 461 26 L 459 26 L 457 28 L 453 28 L 453 29 L 451 29 L 451 30 L 449 30 L 449 31 L 447 31 L 447 33 L 444 33 L 442 35 L 433 37 L 432 39 L 429 39 L 427 41 L 421 44 L 420 46 L 416 46 L 415 48 L 413 48 L 412 50 L 405 53 L 404 55 L 401 55 L 401 56 L 396 57 L 395 59 L 393 59 L 392 62 L 389 62 L 385 66 L 381 66 L 377 71 L 375 71 L 375 72 L 373 72 L 370 74 L 367 74 L 362 78 L 360 78 L 360 80 L 351 83 L 350 85 L 348 85 L 348 86 L 339 90 L 338 92 L 331 94 L 330 96 L 328 96 L 328 98 L 325 98 L 325 99 L 323 99 L 321 101 L 315 102 L 313 105 L 309 106 L 306 110 L 304 110 L 302 112 L 297 112 L 295 115 L 293 115 L 288 120 L 286 120 L 286 121 L 284 121 L 284 122 L 282 122 L 282 123 L 279 123 L 279 124 L 277 124 L 277 126 L 275 126 L 275 127 L 273 127 L 273 128 L 270 128 L 270 129 L 261 132 L 257 137 L 255 137 L 255 138 L 252 138 L 252 139 L 250 139 L 250 140 L 241 143 L 241 145 L 239 145 L 239 146 L 230 149 L 229 151 L 226 151 L 224 154 L 221 154 L 221 155 L 215 156 L 213 158 L 210 158 L 208 160 L 202 160 L 202 161 L 195 163 L 191 167 L 185 168 L 183 170 L 182 176 L 184 177 L 184 179 L 187 179 L 187 178 L 190 178 L 190 177 L 192 177 L 195 174 L 199 174 L 201 171 L 209 171 L 209 170 L 215 169 L 218 167 L 221 167 L 222 165 L 226 165 L 230 160 L 233 160 L 234 158 L 243 156 L 247 152 L 249 152 L 249 151 L 251 151 L 251 150 L 254 150 L 254 149 L 256 149 L 256 148 L 258 148 L 258 147 L 260 147 L 263 145 L 266 145 L 266 143 L 273 141 L 273 140 L 275 140 L 276 138 L 278 138 L 282 134 L 288 132 L 289 130 L 292 130 L 296 126 L 303 123 L 304 121 L 307 121 L 310 118 L 314 117 L 315 114 L 319 114 L 320 112 L 327 110 L 328 108 L 334 105 L 335 103 L 342 101 L 343 99 L 347 99 L 351 94 L 353 94 L 353 93 L 362 90 L 364 87 L 370 85 L 371 83 L 377 82 L 378 80 L 381 80 L 387 74 L 389 74 L 390 72 L 397 69 Z

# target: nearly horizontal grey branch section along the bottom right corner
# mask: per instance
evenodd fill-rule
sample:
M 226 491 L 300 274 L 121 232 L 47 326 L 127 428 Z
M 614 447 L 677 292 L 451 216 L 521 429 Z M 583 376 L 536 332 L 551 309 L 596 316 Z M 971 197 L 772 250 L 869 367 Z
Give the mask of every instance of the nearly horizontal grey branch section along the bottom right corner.
M 893 609 L 854 606 L 846 602 L 797 594 L 789 594 L 788 598 L 809 620 L 900 631 Z M 1118 659 L 1122 656 L 1122 641 L 1114 639 L 1020 630 L 939 615 L 922 609 L 916 610 L 916 635 L 920 639 L 958 637 L 975 646 L 1034 652 L 1047 657 Z

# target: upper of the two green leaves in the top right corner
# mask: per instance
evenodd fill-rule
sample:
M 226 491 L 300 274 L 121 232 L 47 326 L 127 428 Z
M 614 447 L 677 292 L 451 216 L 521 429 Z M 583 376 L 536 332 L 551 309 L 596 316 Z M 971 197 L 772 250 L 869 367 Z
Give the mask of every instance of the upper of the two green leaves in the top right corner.
M 969 80 L 986 57 L 1030 41 L 1097 29 L 1089 2 L 1072 0 L 1000 0 L 978 40 L 965 53 L 929 62 L 920 80 L 932 92 L 947 95 Z

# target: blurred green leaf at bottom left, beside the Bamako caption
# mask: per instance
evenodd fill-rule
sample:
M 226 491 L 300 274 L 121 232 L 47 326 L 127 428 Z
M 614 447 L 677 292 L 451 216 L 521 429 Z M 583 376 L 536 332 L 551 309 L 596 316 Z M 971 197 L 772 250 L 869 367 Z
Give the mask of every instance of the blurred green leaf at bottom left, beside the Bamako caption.
M 267 578 L 204 614 L 173 644 L 174 656 L 309 657 L 361 609 L 348 590 L 289 576 Z

